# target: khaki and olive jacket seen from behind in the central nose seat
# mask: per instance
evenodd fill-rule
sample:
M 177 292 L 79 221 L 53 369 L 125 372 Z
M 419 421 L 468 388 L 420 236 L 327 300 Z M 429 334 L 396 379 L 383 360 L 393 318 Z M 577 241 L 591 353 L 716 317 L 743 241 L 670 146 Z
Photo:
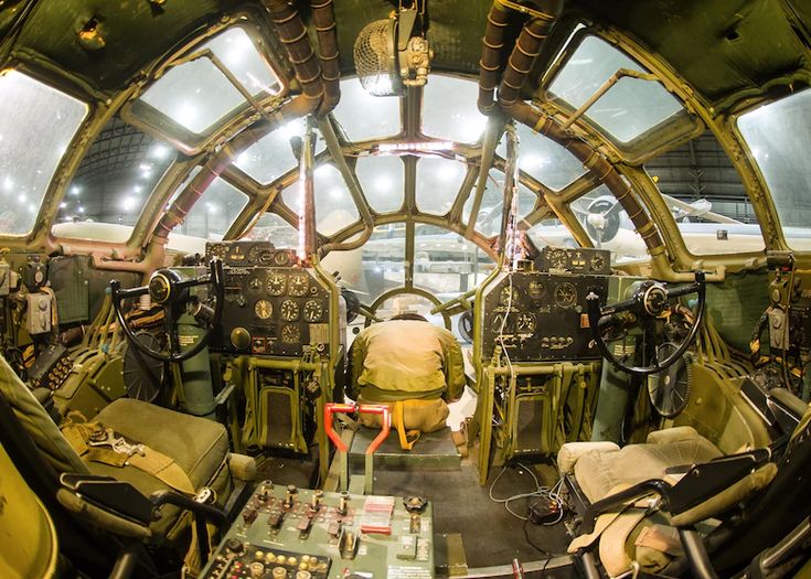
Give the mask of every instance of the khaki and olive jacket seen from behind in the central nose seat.
M 346 394 L 390 401 L 444 398 L 465 388 L 465 363 L 453 334 L 418 320 L 372 324 L 355 336 Z

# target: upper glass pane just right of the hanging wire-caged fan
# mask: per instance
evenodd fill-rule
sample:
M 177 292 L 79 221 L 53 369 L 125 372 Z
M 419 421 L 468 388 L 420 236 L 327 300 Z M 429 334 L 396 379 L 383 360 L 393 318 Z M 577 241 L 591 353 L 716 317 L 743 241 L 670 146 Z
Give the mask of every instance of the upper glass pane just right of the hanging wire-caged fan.
M 423 94 L 425 135 L 460 142 L 476 142 L 481 138 L 487 117 L 476 104 L 479 85 L 474 81 L 430 75 Z

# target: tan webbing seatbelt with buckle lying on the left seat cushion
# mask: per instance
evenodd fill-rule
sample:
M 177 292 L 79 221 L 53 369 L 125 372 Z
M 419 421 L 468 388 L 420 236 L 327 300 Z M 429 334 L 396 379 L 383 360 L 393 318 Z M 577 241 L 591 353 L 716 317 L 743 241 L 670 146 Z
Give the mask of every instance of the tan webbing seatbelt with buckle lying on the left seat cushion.
M 162 452 L 146 444 L 126 440 L 99 422 L 68 421 L 62 433 L 76 453 L 86 462 L 99 462 L 122 469 L 134 467 L 154 476 L 167 486 L 183 494 L 194 495 L 189 475 Z

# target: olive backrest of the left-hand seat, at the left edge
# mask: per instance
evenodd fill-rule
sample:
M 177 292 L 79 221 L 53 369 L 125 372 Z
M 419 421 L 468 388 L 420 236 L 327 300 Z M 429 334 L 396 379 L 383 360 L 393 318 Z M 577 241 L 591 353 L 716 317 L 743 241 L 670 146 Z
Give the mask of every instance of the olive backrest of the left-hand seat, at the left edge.
M 25 433 L 56 473 L 89 473 L 58 427 L 2 356 L 0 396 L 7 400 Z

